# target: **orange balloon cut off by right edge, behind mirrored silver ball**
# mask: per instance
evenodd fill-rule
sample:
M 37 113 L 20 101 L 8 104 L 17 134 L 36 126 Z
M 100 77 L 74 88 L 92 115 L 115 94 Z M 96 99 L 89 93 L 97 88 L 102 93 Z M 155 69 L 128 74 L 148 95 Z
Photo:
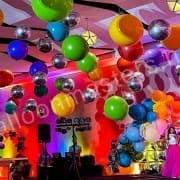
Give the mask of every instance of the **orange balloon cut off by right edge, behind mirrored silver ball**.
M 171 25 L 170 35 L 161 41 L 161 43 L 170 50 L 177 50 L 180 48 L 180 25 Z

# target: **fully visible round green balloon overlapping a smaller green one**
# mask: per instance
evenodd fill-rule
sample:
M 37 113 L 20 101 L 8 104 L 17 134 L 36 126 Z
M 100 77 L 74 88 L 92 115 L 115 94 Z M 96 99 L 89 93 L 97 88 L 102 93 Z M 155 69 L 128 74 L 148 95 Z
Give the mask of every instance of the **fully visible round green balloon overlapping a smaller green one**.
M 73 61 L 83 59 L 89 51 L 87 41 L 79 35 L 71 35 L 64 39 L 62 43 L 62 53 L 64 57 Z

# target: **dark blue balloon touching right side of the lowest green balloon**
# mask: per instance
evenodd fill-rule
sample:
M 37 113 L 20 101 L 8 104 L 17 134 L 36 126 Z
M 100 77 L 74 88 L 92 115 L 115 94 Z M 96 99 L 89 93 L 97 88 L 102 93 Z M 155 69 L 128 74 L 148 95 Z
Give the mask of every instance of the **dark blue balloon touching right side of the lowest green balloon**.
M 146 118 L 146 109 L 141 104 L 133 104 L 129 107 L 129 115 L 138 121 L 143 121 Z

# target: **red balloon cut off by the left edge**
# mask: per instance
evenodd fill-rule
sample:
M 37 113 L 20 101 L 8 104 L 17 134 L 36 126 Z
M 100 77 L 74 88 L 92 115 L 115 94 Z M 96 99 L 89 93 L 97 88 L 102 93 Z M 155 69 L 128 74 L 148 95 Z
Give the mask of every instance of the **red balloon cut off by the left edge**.
M 14 80 L 14 75 L 8 69 L 0 70 L 0 87 L 10 85 Z

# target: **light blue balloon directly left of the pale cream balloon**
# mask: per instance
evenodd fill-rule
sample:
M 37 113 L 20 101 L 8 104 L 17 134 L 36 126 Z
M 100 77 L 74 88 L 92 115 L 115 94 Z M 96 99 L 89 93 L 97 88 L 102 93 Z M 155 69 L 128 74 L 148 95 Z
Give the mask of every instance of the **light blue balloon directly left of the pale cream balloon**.
M 128 126 L 125 131 L 125 134 L 126 134 L 127 138 L 129 139 L 129 141 L 131 141 L 131 142 L 139 142 L 142 140 L 142 137 L 139 132 L 139 128 L 137 128 L 137 127 Z

